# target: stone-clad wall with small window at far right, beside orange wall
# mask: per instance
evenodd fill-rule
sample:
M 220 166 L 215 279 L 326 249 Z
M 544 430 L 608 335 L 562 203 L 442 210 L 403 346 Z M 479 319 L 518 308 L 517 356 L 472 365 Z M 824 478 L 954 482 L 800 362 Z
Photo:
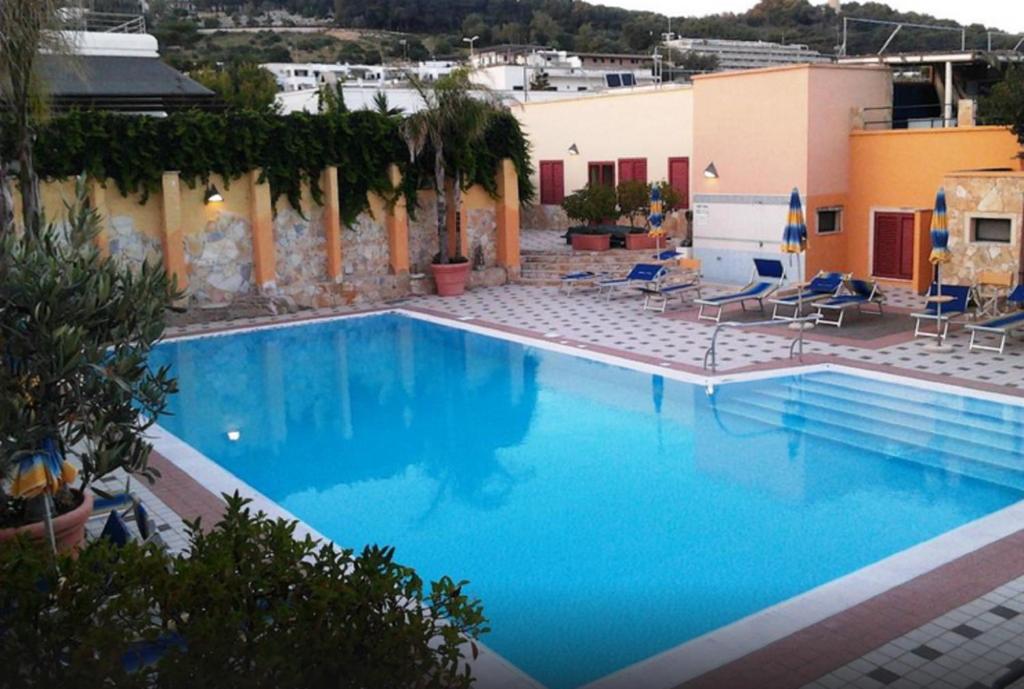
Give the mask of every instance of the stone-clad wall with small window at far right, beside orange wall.
M 974 284 L 982 270 L 1011 272 L 1016 277 L 1021 270 L 1024 174 L 950 175 L 945 180 L 945 189 L 952 260 L 943 270 L 949 282 Z M 972 242 L 972 217 L 1009 218 L 1011 243 Z

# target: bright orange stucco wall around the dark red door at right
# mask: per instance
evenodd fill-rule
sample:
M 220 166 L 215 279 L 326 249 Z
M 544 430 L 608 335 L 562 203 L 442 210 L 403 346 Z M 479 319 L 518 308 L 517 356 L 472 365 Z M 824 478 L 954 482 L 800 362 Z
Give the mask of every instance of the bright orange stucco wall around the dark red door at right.
M 874 212 L 929 209 L 946 174 L 1011 169 L 1019 148 L 1004 127 L 854 132 L 844 209 L 845 268 L 870 274 Z M 923 281 L 927 284 L 918 275 L 914 287 Z

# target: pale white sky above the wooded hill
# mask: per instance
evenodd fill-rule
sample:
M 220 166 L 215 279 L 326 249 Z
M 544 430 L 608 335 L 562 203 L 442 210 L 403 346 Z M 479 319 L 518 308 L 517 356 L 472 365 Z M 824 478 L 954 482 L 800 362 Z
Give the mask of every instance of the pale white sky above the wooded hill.
M 824 4 L 825 0 L 811 0 Z M 1021 0 L 881 0 L 902 11 L 926 12 L 956 19 L 961 24 L 983 24 L 1002 31 L 1024 33 L 1024 2 Z M 673 15 L 742 12 L 756 0 L 591 0 L 594 4 L 648 9 Z

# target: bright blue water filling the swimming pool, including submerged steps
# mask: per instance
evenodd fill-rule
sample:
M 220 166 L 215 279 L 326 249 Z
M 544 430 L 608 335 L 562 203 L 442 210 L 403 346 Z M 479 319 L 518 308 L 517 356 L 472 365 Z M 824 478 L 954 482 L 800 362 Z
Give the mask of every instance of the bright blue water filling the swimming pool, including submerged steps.
M 568 689 L 1006 507 L 1024 412 L 823 372 L 717 388 L 400 315 L 167 343 L 162 425 L 346 547 L 471 582 Z M 238 431 L 231 441 L 228 431 Z

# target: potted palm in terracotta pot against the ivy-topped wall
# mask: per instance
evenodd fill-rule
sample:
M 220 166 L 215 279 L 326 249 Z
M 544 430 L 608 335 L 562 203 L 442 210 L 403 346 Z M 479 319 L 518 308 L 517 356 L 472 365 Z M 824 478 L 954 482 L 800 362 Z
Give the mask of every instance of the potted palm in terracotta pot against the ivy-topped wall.
M 474 88 L 466 70 L 456 70 L 432 84 L 415 77 L 410 81 L 423 107 L 402 121 L 401 134 L 411 160 L 422 157 L 432 165 L 437 196 L 437 255 L 430 271 L 438 295 L 457 296 L 466 289 L 470 264 L 458 236 L 455 253 L 449 253 L 447 191 L 451 187 L 458 222 L 462 191 L 475 172 L 473 152 L 483 145 L 487 125 L 500 105 L 485 89 Z

